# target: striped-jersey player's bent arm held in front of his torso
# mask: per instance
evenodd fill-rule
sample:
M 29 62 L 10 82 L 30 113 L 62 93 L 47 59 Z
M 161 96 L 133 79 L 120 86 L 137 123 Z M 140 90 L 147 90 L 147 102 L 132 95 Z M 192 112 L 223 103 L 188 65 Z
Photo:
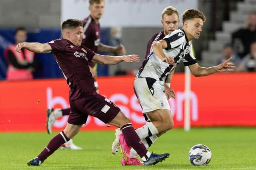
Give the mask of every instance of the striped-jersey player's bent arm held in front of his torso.
M 173 57 L 166 57 L 163 52 L 163 49 L 167 48 L 167 43 L 165 40 L 161 39 L 160 41 L 156 41 L 152 45 L 153 52 L 157 57 L 159 57 L 163 62 L 166 62 L 171 65 L 176 65 Z

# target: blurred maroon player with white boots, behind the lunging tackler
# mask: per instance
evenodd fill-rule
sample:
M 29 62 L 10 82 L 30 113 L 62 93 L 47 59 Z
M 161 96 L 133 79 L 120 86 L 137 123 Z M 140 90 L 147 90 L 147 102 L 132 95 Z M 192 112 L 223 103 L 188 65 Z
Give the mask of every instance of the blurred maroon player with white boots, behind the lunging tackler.
M 83 33 L 84 39 L 82 44 L 85 47 L 88 47 L 95 53 L 104 52 L 104 53 L 115 53 L 115 54 L 126 54 L 126 50 L 122 44 L 117 47 L 112 47 L 108 45 L 104 45 L 100 43 L 100 23 L 99 20 L 102 18 L 105 10 L 105 1 L 104 0 L 89 0 L 89 11 L 90 15 L 83 20 Z M 97 65 L 95 63 L 89 62 L 90 72 L 92 73 L 92 77 L 96 78 L 97 76 Z M 96 91 L 98 90 L 98 82 L 94 79 L 94 86 L 96 87 Z M 52 133 L 52 125 L 59 117 L 64 115 L 69 115 L 70 108 L 67 109 L 47 109 L 47 121 L 46 128 L 47 132 Z M 74 145 L 73 140 L 71 139 L 68 143 L 65 143 L 60 149 L 82 149 Z

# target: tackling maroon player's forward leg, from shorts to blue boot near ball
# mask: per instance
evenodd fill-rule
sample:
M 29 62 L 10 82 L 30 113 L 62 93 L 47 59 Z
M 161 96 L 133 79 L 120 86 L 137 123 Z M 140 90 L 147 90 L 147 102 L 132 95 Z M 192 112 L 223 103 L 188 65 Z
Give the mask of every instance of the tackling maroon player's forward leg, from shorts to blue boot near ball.
M 110 100 L 97 94 L 96 92 L 92 95 L 86 96 L 84 105 L 76 105 L 80 110 L 88 111 L 89 115 L 97 117 L 104 123 L 109 123 L 120 127 L 122 135 L 126 139 L 125 142 L 128 143 L 128 146 L 133 147 L 136 152 L 142 157 L 144 165 L 152 165 L 166 159 L 169 154 L 150 154 L 145 148 L 143 143 L 140 142 L 140 138 L 135 132 L 130 119 L 128 119 L 120 109 Z

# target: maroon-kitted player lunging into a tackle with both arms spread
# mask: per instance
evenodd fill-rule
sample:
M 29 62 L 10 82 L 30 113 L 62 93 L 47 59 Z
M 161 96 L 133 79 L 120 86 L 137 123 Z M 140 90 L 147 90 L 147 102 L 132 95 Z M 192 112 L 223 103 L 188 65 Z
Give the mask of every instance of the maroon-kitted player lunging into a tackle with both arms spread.
M 104 123 L 120 127 L 126 143 L 133 147 L 142 158 L 144 165 L 154 165 L 165 160 L 169 154 L 148 152 L 135 132 L 130 119 L 110 100 L 96 92 L 94 79 L 89 68 L 89 61 L 114 65 L 125 61 L 139 62 L 138 55 L 105 56 L 94 53 L 82 45 L 82 21 L 69 19 L 62 23 L 62 39 L 41 43 L 18 43 L 16 51 L 25 48 L 35 53 L 53 53 L 70 87 L 70 115 L 64 131 L 61 131 L 48 143 L 42 152 L 27 164 L 39 166 L 63 143 L 69 141 L 86 123 L 88 115 L 97 117 Z

